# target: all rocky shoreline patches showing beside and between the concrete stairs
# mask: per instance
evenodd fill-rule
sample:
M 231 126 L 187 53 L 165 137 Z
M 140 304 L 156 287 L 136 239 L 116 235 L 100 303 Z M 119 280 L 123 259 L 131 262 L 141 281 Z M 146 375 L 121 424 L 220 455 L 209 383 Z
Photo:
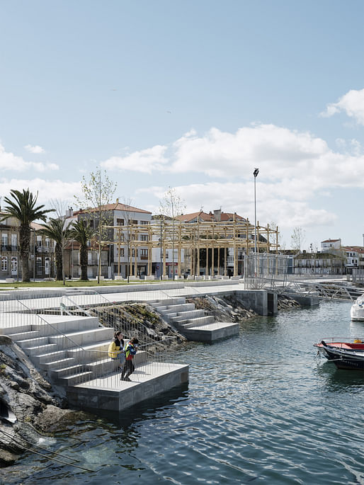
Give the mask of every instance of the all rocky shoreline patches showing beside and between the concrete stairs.
M 211 297 L 212 307 L 229 321 L 238 322 L 257 316 L 246 309 L 235 295 Z M 289 297 L 278 297 L 278 310 L 285 311 L 300 304 Z M 176 345 L 186 342 L 173 326 L 161 319 L 149 305 L 125 305 L 138 325 L 147 327 L 150 338 L 163 340 L 175 336 Z M 43 433 L 65 428 L 74 421 L 90 417 L 84 411 L 67 408 L 62 387 L 55 387 L 40 375 L 23 350 L 7 336 L 0 336 L 0 467 L 14 464 Z

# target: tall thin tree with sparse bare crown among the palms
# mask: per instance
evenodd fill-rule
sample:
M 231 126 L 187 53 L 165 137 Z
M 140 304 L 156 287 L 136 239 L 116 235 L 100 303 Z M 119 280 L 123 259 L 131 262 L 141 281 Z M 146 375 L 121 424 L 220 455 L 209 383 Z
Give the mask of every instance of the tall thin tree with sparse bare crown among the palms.
M 96 215 L 96 220 L 94 221 L 94 227 L 97 231 L 98 237 L 98 272 L 97 272 L 97 283 L 100 283 L 101 275 L 101 249 L 103 247 L 103 238 L 106 239 L 108 234 L 105 226 L 110 224 L 108 218 L 107 210 L 105 206 L 110 204 L 115 193 L 117 183 L 110 181 L 106 175 L 106 171 L 101 171 L 101 169 L 96 169 L 95 172 L 90 173 L 89 181 L 85 177 L 82 177 L 81 181 L 81 191 L 83 193 L 83 198 L 78 198 L 74 196 L 79 207 L 89 207 L 91 205 L 91 210 L 89 215 Z M 105 236 L 105 237 L 104 237 Z

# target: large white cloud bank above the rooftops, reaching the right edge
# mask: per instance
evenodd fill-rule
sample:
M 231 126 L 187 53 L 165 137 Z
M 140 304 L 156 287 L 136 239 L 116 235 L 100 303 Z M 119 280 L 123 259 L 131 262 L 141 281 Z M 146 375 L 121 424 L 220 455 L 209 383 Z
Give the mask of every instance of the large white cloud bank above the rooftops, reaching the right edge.
M 343 142 L 341 147 L 343 146 Z M 331 150 L 324 139 L 275 125 L 242 127 L 236 133 L 211 128 L 205 135 L 188 132 L 166 147 L 157 145 L 103 162 L 108 169 L 204 173 L 214 178 L 251 180 L 255 167 L 266 181 L 297 181 L 305 187 L 364 187 L 364 157 L 357 143 L 351 154 Z M 288 184 L 289 186 L 290 184 Z M 284 190 L 282 183 L 281 188 Z

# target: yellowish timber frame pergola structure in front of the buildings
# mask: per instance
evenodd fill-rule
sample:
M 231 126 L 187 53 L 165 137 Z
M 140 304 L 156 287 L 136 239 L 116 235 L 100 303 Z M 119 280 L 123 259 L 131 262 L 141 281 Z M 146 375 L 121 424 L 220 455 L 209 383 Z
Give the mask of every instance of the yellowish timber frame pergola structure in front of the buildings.
M 200 275 L 200 249 L 217 249 L 217 266 L 215 266 L 214 253 L 211 251 L 212 261 L 208 261 L 206 251 L 205 274 L 209 266 L 217 268 L 220 274 L 227 275 L 227 253 L 233 253 L 234 276 L 238 275 L 238 251 L 249 255 L 254 253 L 254 224 L 249 219 L 233 220 L 228 222 L 181 222 L 178 219 L 172 224 L 171 219 L 152 219 L 149 224 L 129 224 L 125 226 L 108 226 L 113 229 L 114 240 L 103 241 L 102 244 L 113 244 L 120 248 L 127 248 L 129 268 L 134 266 L 134 274 L 137 274 L 137 249 L 147 248 L 147 256 L 144 256 L 147 264 L 147 275 L 152 275 L 152 249 L 159 249 L 163 255 L 163 273 L 166 275 L 166 251 L 175 249 L 178 251 L 178 277 L 181 278 L 181 251 L 184 250 L 185 270 L 189 269 L 190 275 Z M 278 227 L 275 229 L 256 225 L 256 246 L 258 253 L 278 254 Z M 140 237 L 144 236 L 144 237 Z M 147 237 L 145 237 L 147 236 Z M 220 251 L 224 251 L 224 268 L 219 268 Z M 115 261 L 120 267 L 119 261 Z M 132 274 L 132 271 L 130 271 Z

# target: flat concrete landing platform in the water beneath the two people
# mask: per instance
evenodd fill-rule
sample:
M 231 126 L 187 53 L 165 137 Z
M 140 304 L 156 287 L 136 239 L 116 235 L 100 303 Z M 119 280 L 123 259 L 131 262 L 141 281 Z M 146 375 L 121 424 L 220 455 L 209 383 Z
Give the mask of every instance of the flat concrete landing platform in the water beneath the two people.
M 120 372 L 67 388 L 69 402 L 81 409 L 123 411 L 188 382 L 188 365 L 145 363 L 120 381 Z

